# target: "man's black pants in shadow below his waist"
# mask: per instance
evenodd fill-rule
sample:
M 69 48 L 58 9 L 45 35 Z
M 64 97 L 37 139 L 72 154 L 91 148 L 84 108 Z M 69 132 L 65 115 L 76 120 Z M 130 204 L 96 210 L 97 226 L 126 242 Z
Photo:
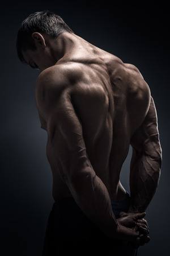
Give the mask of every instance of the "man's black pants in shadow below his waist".
M 129 202 L 128 194 L 123 201 L 112 201 L 117 217 L 118 212 L 128 210 Z M 42 256 L 54 255 L 134 256 L 135 250 L 105 236 L 70 197 L 56 201 L 49 215 Z

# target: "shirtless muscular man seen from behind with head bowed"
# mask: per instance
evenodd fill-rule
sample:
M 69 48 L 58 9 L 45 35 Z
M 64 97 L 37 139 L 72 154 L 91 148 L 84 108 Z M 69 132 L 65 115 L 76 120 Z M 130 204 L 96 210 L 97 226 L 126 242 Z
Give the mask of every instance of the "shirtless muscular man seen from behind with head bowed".
M 24 20 L 16 47 L 23 63 L 41 71 L 36 106 L 48 133 L 55 201 L 43 255 L 134 255 L 133 247 L 150 240 L 143 212 L 162 162 L 147 83 L 134 65 L 86 42 L 49 11 Z M 129 196 L 120 172 L 130 145 Z

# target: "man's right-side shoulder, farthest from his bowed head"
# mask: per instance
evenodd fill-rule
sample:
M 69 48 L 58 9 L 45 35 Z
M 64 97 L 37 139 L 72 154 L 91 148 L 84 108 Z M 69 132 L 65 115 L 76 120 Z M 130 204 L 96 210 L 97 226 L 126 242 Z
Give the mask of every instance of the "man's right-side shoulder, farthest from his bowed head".
M 131 127 L 136 129 L 146 117 L 150 106 L 151 93 L 147 82 L 139 69 L 132 64 L 117 62 L 117 70 L 113 76 L 116 88 L 126 99 L 126 110 L 131 120 Z

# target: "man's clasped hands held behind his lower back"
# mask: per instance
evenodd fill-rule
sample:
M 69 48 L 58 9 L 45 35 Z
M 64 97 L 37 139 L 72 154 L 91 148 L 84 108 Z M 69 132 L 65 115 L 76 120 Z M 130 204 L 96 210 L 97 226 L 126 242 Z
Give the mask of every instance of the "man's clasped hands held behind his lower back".
M 129 230 L 135 231 L 137 234 L 132 241 L 130 241 L 131 246 L 134 249 L 137 249 L 141 245 L 145 245 L 150 241 L 149 228 L 147 221 L 143 218 L 145 217 L 146 213 L 120 213 L 120 218 L 117 218 L 118 225 L 121 227 L 128 228 Z M 131 236 L 131 232 L 127 230 L 127 235 Z M 125 231 L 126 232 L 126 231 Z

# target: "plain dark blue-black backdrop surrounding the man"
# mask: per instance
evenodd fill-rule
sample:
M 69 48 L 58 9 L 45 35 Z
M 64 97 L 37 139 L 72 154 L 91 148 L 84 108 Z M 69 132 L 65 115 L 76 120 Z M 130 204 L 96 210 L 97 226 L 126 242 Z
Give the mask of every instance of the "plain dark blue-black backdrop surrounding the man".
M 40 256 L 52 207 L 46 133 L 35 106 L 39 75 L 16 55 L 18 27 L 35 11 L 60 15 L 75 34 L 136 65 L 158 112 L 163 168 L 147 209 L 151 242 L 138 255 L 167 255 L 169 242 L 169 3 L 1 1 L 1 255 Z M 129 190 L 129 160 L 121 180 Z

